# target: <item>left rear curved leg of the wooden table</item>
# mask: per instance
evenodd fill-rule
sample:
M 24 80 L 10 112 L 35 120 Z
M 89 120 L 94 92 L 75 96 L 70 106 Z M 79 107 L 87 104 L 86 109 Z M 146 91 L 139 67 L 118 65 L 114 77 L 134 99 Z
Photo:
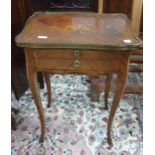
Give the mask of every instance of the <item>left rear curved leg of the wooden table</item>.
M 51 102 L 52 102 L 50 73 L 45 73 L 44 72 L 44 77 L 45 77 L 45 82 L 46 82 L 46 86 L 47 86 L 47 94 L 48 94 L 47 95 L 47 98 L 48 98 L 47 107 L 49 108 L 51 106 Z

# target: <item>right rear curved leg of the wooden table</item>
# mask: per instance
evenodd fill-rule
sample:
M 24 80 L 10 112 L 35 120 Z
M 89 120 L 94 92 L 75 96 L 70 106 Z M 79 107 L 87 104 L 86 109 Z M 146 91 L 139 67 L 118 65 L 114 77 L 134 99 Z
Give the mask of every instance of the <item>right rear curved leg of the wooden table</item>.
M 106 79 L 106 85 L 105 85 L 105 95 L 104 95 L 104 102 L 105 102 L 105 108 L 108 110 L 108 96 L 109 96 L 109 91 L 110 91 L 110 86 L 111 86 L 111 80 L 112 80 L 112 73 L 107 74 L 107 79 Z

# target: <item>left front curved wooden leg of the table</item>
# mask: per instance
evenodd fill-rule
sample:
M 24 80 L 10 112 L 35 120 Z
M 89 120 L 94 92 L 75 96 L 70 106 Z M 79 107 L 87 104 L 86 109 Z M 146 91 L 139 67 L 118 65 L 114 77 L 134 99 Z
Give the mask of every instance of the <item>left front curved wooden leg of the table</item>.
M 44 136 L 45 136 L 45 114 L 44 114 L 44 109 L 41 103 L 41 98 L 39 94 L 39 89 L 38 89 L 38 81 L 37 81 L 37 71 L 35 68 L 35 60 L 33 57 L 33 53 L 30 52 L 25 52 L 26 55 L 26 70 L 27 70 L 27 78 L 29 82 L 29 87 L 32 92 L 32 96 L 34 98 L 38 113 L 39 113 L 39 118 L 40 118 L 40 124 L 41 124 L 41 137 L 40 137 L 40 142 L 44 141 Z

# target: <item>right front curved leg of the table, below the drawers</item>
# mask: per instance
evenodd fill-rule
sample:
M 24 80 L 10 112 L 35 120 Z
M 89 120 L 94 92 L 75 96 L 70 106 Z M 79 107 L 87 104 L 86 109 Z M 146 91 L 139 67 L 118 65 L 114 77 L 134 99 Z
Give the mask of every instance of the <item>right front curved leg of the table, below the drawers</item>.
M 113 145 L 112 139 L 111 139 L 112 122 L 124 91 L 126 78 L 127 78 L 127 73 L 126 74 L 118 73 L 116 92 L 111 106 L 109 120 L 108 120 L 108 127 L 107 127 L 107 141 L 109 145 Z

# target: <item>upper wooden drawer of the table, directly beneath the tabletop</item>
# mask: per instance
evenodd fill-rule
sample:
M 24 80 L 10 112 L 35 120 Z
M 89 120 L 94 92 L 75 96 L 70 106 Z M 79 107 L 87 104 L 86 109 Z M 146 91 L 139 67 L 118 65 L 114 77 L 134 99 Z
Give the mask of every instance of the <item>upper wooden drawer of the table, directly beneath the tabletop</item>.
M 78 50 L 78 49 L 37 49 L 35 57 L 37 59 L 89 59 L 106 60 L 119 59 L 121 52 L 99 51 L 99 50 Z

